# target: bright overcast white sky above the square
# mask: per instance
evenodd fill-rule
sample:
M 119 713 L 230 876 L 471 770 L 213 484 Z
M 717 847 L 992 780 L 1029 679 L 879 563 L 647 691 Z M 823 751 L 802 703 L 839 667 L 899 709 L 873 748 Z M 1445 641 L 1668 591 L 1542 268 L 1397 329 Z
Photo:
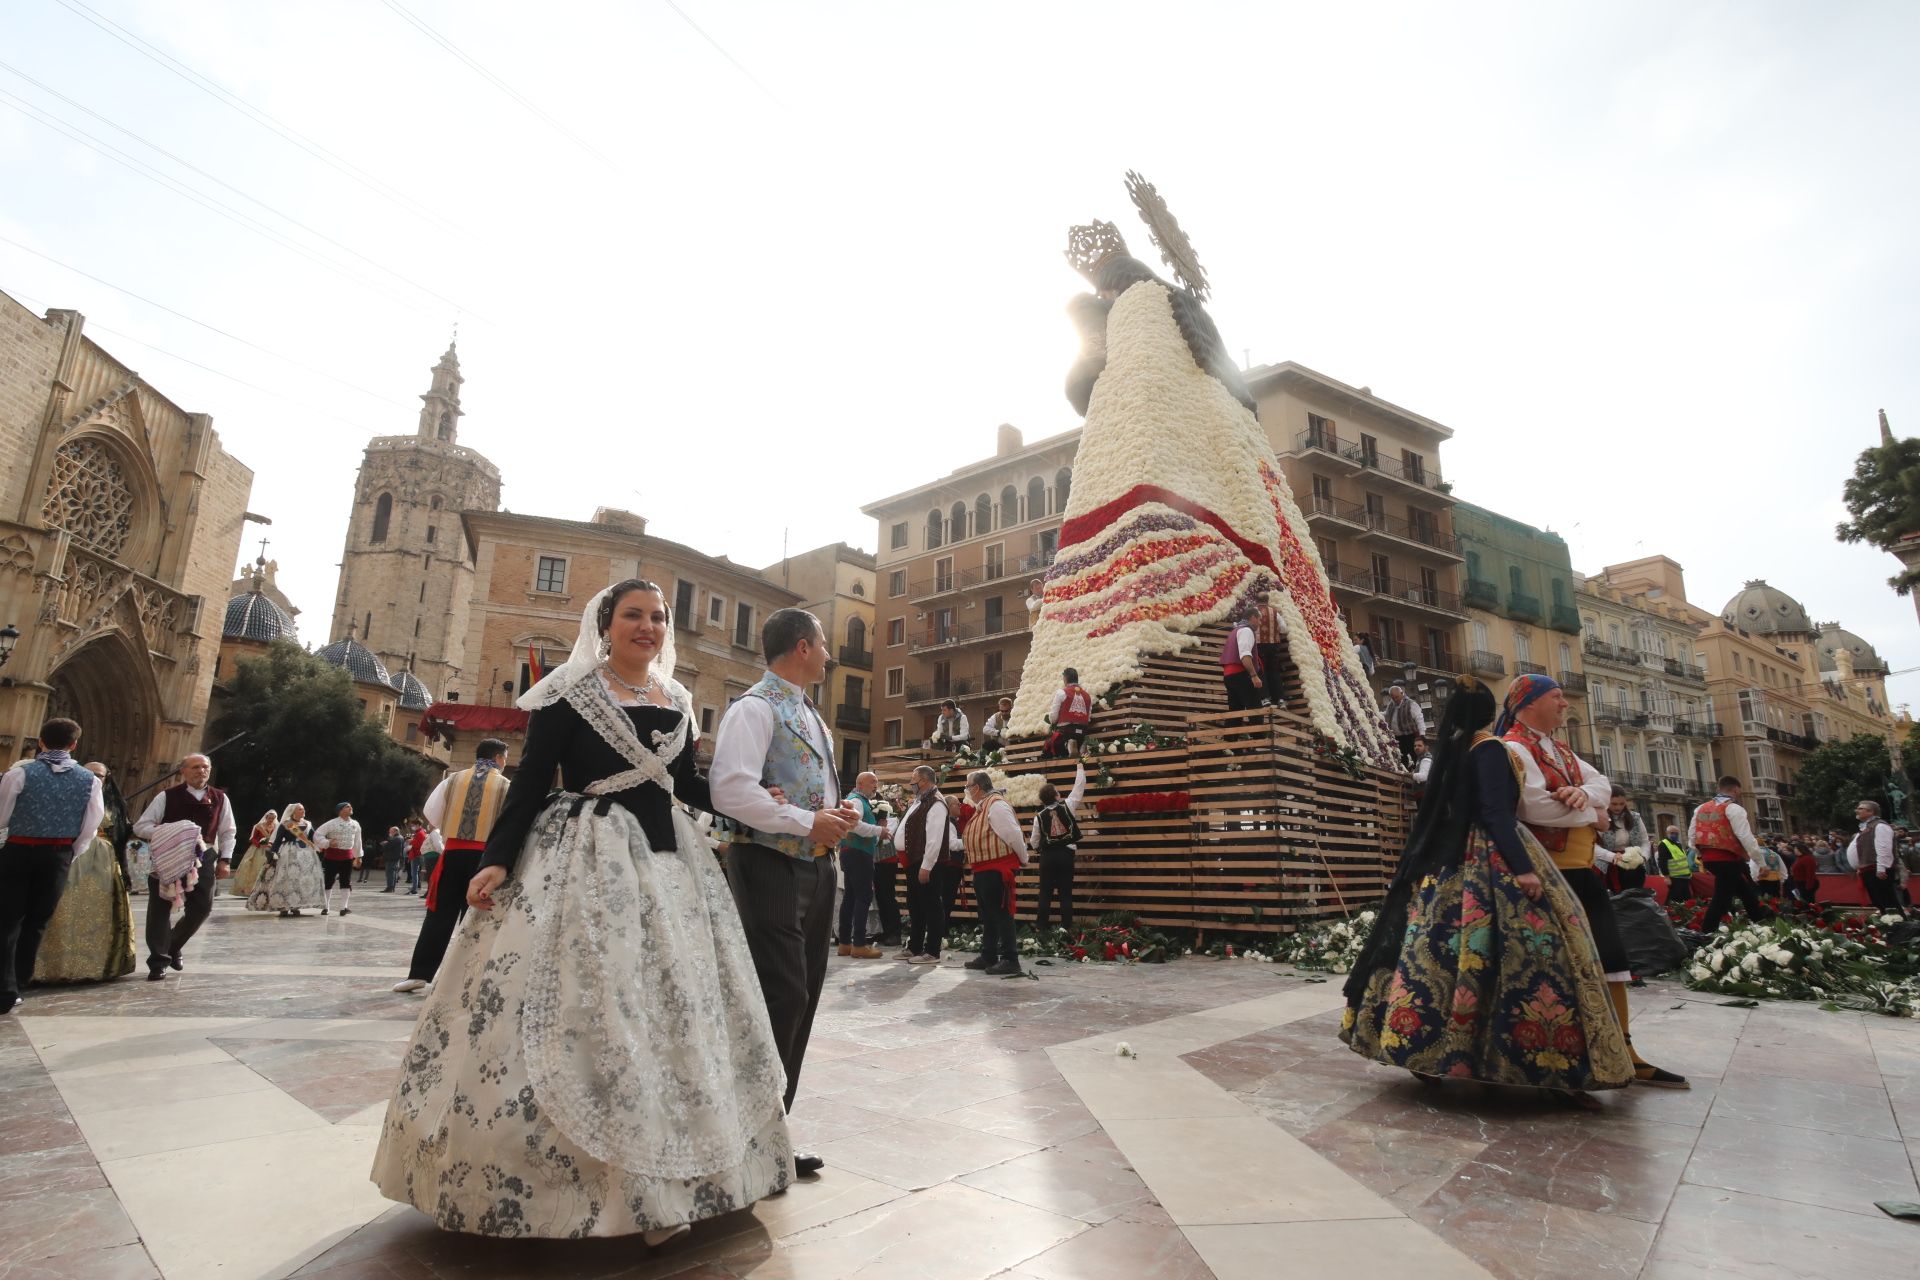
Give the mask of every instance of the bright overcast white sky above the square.
M 12 0 L 0 290 L 213 415 L 319 643 L 455 320 L 513 510 L 874 547 L 864 501 L 1077 424 L 1060 249 L 1150 257 L 1133 167 L 1231 349 L 1446 422 L 1576 568 L 1766 578 L 1905 668 L 1832 530 L 1876 411 L 1920 430 L 1916 54 L 1903 2 Z

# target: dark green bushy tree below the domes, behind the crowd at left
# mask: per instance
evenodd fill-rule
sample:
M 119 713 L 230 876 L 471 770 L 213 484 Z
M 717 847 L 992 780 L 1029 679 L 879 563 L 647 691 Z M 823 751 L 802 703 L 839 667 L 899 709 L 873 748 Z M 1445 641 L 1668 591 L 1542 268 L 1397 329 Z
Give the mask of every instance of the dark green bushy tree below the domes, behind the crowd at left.
M 227 683 L 227 708 L 213 739 L 244 739 L 213 762 L 215 781 L 232 796 L 242 833 L 265 810 L 294 800 L 321 823 L 349 800 L 369 835 L 419 812 L 438 770 L 367 720 L 353 679 L 292 641 L 242 658 Z

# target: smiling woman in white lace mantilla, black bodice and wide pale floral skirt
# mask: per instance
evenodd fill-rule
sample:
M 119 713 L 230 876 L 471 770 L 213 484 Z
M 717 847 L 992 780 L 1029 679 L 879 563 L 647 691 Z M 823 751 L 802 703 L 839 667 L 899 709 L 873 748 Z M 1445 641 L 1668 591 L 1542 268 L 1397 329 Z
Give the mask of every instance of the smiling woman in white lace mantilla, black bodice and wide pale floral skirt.
M 447 1230 L 653 1245 L 793 1178 L 747 940 L 676 804 L 710 800 L 672 662 L 659 587 L 628 580 L 520 699 L 524 758 L 372 1167 Z

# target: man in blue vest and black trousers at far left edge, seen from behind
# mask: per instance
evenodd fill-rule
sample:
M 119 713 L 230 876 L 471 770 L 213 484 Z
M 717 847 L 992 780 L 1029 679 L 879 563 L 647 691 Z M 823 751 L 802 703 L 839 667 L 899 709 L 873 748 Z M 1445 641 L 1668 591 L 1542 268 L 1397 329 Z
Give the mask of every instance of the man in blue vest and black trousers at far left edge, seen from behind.
M 81 725 L 48 720 L 40 754 L 0 775 L 0 1013 L 33 981 L 46 923 L 67 890 L 67 867 L 94 842 L 106 800 L 100 779 L 73 762 Z

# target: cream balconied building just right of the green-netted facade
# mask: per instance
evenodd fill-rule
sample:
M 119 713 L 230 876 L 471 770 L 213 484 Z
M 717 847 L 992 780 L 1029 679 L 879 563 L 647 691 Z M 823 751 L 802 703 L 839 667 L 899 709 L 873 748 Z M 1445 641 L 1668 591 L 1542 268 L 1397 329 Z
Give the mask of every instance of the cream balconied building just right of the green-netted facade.
M 1690 806 L 1713 794 L 1722 722 L 1682 568 L 1667 557 L 1611 564 L 1580 580 L 1574 606 L 1594 764 L 1632 796 L 1649 829 L 1684 823 Z

